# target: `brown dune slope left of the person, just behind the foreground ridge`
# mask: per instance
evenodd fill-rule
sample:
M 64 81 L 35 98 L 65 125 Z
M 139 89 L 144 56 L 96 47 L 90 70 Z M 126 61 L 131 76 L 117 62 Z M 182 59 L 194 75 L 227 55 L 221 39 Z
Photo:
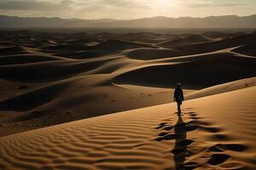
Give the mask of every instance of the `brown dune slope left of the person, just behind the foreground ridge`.
M 190 92 L 192 90 L 184 89 L 184 94 Z M 173 89 L 111 84 L 109 78 L 104 75 L 83 76 L 49 83 L 3 99 L 0 101 L 0 110 L 2 116 L 7 116 L 2 123 L 6 127 L 18 130 L 27 123 L 31 128 L 44 127 L 117 111 L 169 103 L 172 101 L 172 93 Z M 99 107 L 95 108 L 95 105 Z M 8 117 L 5 113 L 7 111 L 15 111 L 15 117 Z

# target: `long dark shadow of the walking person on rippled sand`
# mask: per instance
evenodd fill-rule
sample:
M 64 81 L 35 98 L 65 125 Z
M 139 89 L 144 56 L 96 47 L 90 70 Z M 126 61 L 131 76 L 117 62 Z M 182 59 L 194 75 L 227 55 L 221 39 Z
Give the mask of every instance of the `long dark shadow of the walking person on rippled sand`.
M 177 123 L 174 127 L 174 133 L 176 139 L 172 153 L 174 154 L 175 169 L 184 169 L 183 164 L 186 159 L 185 154 L 187 151 L 187 144 L 185 144 L 185 140 L 187 139 L 187 131 L 186 123 L 183 122 L 182 116 L 178 116 Z

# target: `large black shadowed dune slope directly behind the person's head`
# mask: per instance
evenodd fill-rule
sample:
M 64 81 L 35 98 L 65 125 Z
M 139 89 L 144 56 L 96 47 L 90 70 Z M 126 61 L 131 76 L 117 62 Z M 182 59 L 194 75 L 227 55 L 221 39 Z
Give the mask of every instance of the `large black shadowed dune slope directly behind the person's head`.
M 170 87 L 175 86 L 176 82 L 182 82 L 184 88 L 200 89 L 256 76 L 256 59 L 233 53 L 206 54 L 171 61 L 186 62 L 175 65 L 149 65 L 125 72 L 115 77 L 113 82 L 155 87 Z

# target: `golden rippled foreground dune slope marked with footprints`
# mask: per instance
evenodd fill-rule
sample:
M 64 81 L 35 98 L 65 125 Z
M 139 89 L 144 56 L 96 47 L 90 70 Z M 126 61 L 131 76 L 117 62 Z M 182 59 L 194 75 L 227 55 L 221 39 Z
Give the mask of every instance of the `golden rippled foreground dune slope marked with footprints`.
M 256 88 L 0 138 L 3 169 L 253 170 Z M 227 122 L 227 120 L 229 120 Z

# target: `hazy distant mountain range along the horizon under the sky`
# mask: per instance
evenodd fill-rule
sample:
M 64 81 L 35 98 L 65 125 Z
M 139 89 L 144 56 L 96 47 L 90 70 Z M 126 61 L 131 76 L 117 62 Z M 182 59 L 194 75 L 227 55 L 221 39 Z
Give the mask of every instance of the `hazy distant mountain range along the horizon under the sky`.
M 206 18 L 192 17 L 153 17 L 137 20 L 80 20 L 61 18 L 22 18 L 0 15 L 0 27 L 98 27 L 98 28 L 256 28 L 256 15 L 250 16 L 209 16 Z

